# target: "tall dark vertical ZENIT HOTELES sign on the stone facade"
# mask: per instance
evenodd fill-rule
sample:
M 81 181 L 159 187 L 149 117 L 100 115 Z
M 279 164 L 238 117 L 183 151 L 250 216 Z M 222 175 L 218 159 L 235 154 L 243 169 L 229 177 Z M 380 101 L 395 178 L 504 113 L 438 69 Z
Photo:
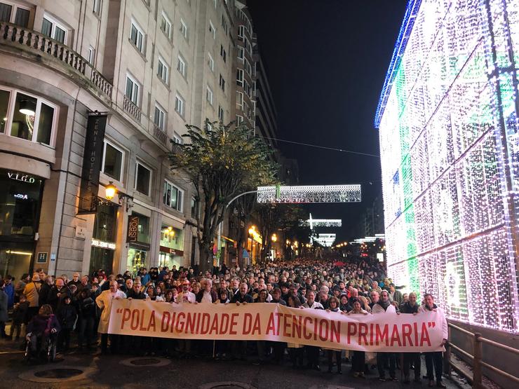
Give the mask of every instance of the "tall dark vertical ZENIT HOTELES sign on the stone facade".
M 106 125 L 107 115 L 88 116 L 79 191 L 79 214 L 95 213 Z

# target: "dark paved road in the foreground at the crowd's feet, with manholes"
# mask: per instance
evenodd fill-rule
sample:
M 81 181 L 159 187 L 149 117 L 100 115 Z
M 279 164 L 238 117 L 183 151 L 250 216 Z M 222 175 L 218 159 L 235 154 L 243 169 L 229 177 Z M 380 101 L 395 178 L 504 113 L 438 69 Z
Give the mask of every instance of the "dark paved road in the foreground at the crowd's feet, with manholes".
M 22 362 L 20 348 L 15 348 L 11 341 L 0 341 L 0 388 L 225 388 L 258 389 L 274 388 L 312 388 L 312 389 L 346 389 L 346 388 L 419 388 L 420 385 L 386 382 L 377 380 L 375 370 L 366 379 L 353 378 L 348 374 L 349 364 L 343 364 L 343 374 L 329 374 L 326 371 L 307 371 L 292 369 L 288 362 L 284 366 L 274 364 L 254 365 L 242 361 L 214 361 L 210 359 L 194 360 L 161 360 L 166 366 L 135 366 L 121 364 L 131 358 L 128 355 L 100 356 L 74 351 L 62 357 L 61 362 L 27 366 Z M 141 363 L 151 362 L 147 357 Z M 20 374 L 32 375 L 32 371 L 49 374 L 49 369 L 76 367 L 88 369 L 88 374 L 79 376 L 79 381 L 62 381 L 60 383 L 37 383 L 25 381 Z M 326 369 L 325 364 L 321 366 Z M 334 369 L 335 370 L 335 369 Z M 400 371 L 398 371 L 400 374 Z M 222 382 L 236 382 L 241 385 L 216 385 Z M 215 385 L 208 385 L 215 383 Z M 459 388 L 452 381 L 445 380 L 448 388 Z M 426 387 L 426 381 L 421 385 Z M 469 386 L 466 386 L 469 388 Z

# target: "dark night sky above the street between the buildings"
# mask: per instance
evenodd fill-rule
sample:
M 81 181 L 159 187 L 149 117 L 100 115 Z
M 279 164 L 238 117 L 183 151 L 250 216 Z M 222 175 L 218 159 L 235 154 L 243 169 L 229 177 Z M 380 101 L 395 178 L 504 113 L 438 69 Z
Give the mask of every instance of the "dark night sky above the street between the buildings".
M 379 155 L 373 119 L 406 4 L 248 0 L 278 111 L 278 138 Z M 362 203 L 306 206 L 314 219 L 342 219 L 342 228 L 321 232 L 360 238 L 360 214 L 382 194 L 379 158 L 278 145 L 297 159 L 302 185 L 362 184 Z

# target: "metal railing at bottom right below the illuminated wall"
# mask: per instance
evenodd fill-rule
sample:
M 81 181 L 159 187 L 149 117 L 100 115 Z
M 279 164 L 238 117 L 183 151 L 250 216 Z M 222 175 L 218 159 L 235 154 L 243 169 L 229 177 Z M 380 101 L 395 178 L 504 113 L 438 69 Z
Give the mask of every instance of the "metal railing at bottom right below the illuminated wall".
M 519 378 L 516 376 L 512 376 L 511 374 L 506 373 L 506 371 L 502 371 L 500 369 L 497 369 L 497 367 L 492 366 L 491 364 L 488 364 L 487 362 L 483 362 L 483 343 L 487 343 L 490 346 L 494 346 L 497 348 L 500 348 L 501 350 L 506 350 L 509 353 L 512 353 L 513 355 L 519 355 L 519 350 L 516 348 L 511 348 L 509 346 L 505 346 L 504 344 L 497 343 L 494 341 L 491 341 L 490 339 L 485 339 L 483 336 L 481 336 L 480 333 L 476 332 L 469 332 L 466 329 L 463 329 L 461 327 L 458 327 L 457 325 L 453 325 L 452 323 L 449 323 L 449 339 L 452 339 L 451 332 L 452 329 L 460 332 L 461 334 L 464 334 L 472 339 L 472 354 L 467 353 L 465 350 L 462 350 L 458 346 L 452 344 L 449 342 L 449 347 L 445 350 L 445 362 L 448 364 L 447 366 L 447 374 L 450 374 L 450 367 L 453 367 L 456 371 L 459 372 L 462 376 L 467 378 L 469 381 L 472 382 L 473 388 L 486 388 L 485 385 L 483 385 L 483 373 L 482 368 L 486 367 L 487 369 L 490 369 L 494 371 L 494 373 L 497 373 L 501 376 L 504 376 L 508 378 L 509 380 L 519 384 Z M 457 353 L 464 355 L 465 357 L 469 358 L 471 361 L 471 367 L 472 367 L 472 374 L 470 371 L 466 371 L 465 369 L 460 369 L 457 367 L 454 362 L 451 360 L 451 349 L 456 350 Z

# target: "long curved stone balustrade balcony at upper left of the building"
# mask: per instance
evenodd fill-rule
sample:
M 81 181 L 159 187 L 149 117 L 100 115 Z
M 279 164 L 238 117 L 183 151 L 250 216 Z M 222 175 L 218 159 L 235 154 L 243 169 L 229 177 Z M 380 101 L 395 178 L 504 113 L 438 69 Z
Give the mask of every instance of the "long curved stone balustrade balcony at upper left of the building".
M 81 55 L 68 46 L 44 36 L 41 32 L 13 25 L 8 22 L 0 22 L 0 45 L 24 50 L 36 56 L 35 60 L 45 62 L 53 69 L 61 70 L 67 75 L 71 71 L 86 81 L 87 85 L 98 95 L 112 100 L 112 83 L 105 79 L 99 71 Z M 43 60 L 43 61 L 42 61 Z M 49 61 L 50 60 L 50 61 Z M 65 69 L 55 67 L 55 61 L 65 65 Z M 65 71 L 64 71 L 65 70 Z M 37 76 L 37 75 L 36 75 Z

